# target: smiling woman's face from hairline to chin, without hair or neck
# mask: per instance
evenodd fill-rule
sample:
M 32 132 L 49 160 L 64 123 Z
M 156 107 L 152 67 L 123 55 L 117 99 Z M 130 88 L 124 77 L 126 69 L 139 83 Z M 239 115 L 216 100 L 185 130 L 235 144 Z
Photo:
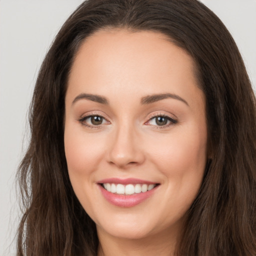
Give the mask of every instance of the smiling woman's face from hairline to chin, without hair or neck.
M 152 31 L 81 45 L 65 97 L 68 173 L 99 235 L 178 232 L 206 163 L 205 98 L 192 58 Z

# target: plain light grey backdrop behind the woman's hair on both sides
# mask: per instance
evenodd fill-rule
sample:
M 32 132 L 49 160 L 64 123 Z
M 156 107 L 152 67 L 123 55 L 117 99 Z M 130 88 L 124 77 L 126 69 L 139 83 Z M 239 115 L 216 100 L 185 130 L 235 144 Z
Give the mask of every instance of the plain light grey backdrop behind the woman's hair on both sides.
M 256 0 L 201 0 L 224 22 L 256 90 Z M 15 172 L 29 138 L 27 109 L 40 63 L 82 0 L 0 0 L 0 256 L 14 255 Z

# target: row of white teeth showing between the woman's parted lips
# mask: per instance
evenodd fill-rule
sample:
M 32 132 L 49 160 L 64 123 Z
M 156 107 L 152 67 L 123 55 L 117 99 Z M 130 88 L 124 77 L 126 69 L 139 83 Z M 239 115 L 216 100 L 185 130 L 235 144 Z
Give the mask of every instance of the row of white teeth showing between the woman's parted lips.
M 120 195 L 132 195 L 144 193 L 158 186 L 159 184 L 115 184 L 115 183 L 100 183 L 100 185 L 108 192 Z

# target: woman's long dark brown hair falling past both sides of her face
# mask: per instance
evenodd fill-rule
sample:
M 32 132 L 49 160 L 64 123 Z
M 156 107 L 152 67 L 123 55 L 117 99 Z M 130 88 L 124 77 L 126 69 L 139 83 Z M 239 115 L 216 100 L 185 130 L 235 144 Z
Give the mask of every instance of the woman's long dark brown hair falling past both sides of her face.
M 24 206 L 17 255 L 97 253 L 95 224 L 68 178 L 64 96 L 81 43 L 111 27 L 167 35 L 193 57 L 206 97 L 211 157 L 176 255 L 256 255 L 256 100 L 231 35 L 197 0 L 87 0 L 66 20 L 41 65 L 30 106 L 30 144 L 17 175 Z

